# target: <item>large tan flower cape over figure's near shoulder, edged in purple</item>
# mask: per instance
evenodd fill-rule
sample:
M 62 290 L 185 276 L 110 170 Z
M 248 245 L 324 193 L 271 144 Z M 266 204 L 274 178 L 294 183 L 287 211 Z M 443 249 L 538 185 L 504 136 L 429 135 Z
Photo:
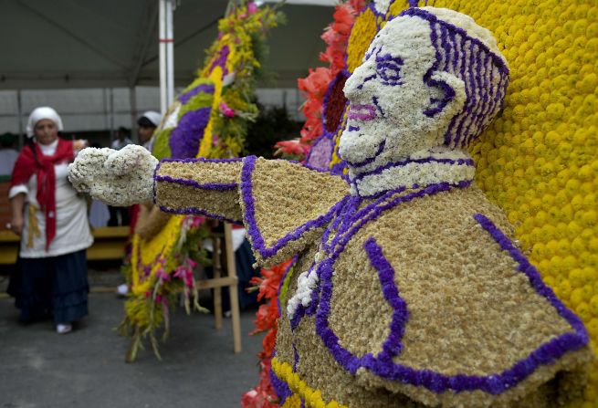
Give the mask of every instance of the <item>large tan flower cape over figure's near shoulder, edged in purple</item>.
M 470 187 L 397 205 L 344 236 L 316 312 L 335 360 L 364 386 L 447 406 L 517 399 L 564 367 L 582 375 L 581 321 L 497 225 L 509 231 Z

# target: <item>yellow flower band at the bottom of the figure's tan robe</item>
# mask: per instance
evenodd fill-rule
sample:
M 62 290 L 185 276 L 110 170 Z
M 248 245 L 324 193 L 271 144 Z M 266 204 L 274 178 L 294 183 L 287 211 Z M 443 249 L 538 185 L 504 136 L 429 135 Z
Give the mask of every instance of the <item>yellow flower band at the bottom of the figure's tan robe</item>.
M 290 391 L 294 393 L 289 397 L 289 407 L 300 406 L 300 404 L 296 405 L 300 401 L 297 398 L 297 395 L 299 395 L 305 401 L 306 408 L 346 408 L 345 405 L 341 405 L 336 401 L 324 402 L 320 390 L 310 388 L 308 384 L 299 378 L 299 374 L 293 371 L 289 363 L 278 361 L 275 357 L 272 359 L 272 370 L 280 380 L 289 384 Z M 283 406 L 287 407 L 288 405 L 285 403 Z

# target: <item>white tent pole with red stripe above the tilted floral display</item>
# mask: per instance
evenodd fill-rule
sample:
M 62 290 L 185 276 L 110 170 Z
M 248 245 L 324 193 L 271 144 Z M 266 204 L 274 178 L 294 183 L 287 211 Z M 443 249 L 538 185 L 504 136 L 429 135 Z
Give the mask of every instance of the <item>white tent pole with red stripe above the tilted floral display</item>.
M 166 110 L 174 99 L 173 2 L 160 1 L 160 110 Z

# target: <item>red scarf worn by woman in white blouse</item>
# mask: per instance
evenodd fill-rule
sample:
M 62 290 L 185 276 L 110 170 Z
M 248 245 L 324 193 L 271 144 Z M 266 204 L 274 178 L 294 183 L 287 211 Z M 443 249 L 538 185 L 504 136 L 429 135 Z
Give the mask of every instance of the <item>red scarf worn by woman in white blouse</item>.
M 34 156 L 33 149 L 36 150 Z M 54 165 L 71 162 L 74 158 L 73 142 L 58 138 L 56 152 L 44 156 L 37 143 L 27 146 L 16 158 L 10 186 L 26 184 L 32 174 L 37 175 L 37 203 L 46 214 L 46 250 L 56 235 L 56 173 Z

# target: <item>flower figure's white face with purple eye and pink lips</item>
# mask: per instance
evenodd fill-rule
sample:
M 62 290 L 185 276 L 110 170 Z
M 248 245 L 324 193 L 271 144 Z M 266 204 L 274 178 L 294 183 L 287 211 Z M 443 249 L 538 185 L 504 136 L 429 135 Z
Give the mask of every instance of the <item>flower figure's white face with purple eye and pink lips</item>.
M 438 124 L 424 114 L 442 98 L 424 82 L 435 62 L 430 31 L 421 18 L 394 18 L 347 80 L 350 108 L 339 152 L 352 169 L 371 170 L 436 145 Z

